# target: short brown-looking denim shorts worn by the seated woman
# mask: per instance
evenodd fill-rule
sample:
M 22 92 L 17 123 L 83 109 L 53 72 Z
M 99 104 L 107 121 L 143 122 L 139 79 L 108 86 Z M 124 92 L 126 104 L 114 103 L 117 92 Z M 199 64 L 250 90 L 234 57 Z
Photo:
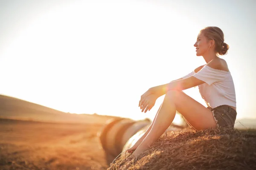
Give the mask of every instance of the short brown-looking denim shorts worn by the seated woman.
M 236 121 L 236 110 L 228 105 L 221 105 L 216 108 L 207 107 L 212 111 L 217 127 L 234 128 Z

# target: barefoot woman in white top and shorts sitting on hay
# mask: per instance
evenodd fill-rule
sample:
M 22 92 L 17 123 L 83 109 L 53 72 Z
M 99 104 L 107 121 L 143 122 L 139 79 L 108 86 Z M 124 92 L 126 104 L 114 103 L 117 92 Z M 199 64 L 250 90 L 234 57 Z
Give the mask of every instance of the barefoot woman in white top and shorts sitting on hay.
M 172 123 L 176 111 L 195 130 L 208 128 L 233 128 L 236 120 L 236 94 L 232 76 L 224 59 L 218 55 L 227 53 L 229 46 L 218 27 L 202 29 L 194 44 L 196 55 L 206 62 L 190 74 L 165 85 L 148 89 L 140 99 L 142 112 L 150 111 L 158 97 L 165 95 L 162 105 L 145 134 L 127 151 L 131 158 L 147 150 Z M 207 108 L 182 91 L 198 86 Z

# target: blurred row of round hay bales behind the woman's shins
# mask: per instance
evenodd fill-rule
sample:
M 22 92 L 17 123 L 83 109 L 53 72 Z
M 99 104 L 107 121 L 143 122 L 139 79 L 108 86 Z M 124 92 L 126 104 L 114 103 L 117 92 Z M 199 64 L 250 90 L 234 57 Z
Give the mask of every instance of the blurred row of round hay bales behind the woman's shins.
M 125 118 L 108 120 L 102 130 L 98 133 L 102 148 L 105 150 L 106 155 L 111 156 L 114 159 L 122 152 L 122 148 L 128 139 L 137 133 L 138 130 L 150 123 L 151 122 L 148 120 L 134 121 Z

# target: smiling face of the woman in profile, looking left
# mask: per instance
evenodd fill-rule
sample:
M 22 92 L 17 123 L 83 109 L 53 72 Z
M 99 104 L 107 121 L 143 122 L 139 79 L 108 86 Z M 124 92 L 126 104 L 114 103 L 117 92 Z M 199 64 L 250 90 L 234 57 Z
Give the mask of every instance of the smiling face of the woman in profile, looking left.
M 209 50 L 209 41 L 207 40 L 207 37 L 204 36 L 204 34 L 199 33 L 197 40 L 194 44 L 195 51 L 197 56 L 203 56 L 208 50 Z

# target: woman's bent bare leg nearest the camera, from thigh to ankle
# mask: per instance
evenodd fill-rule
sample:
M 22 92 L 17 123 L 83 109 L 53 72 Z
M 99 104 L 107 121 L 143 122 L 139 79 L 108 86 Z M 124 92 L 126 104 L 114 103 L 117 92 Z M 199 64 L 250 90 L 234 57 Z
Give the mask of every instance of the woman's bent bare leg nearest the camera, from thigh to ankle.
M 187 96 L 182 91 L 168 91 L 151 130 L 134 151 L 134 156 L 138 156 L 157 141 L 172 123 L 176 110 L 179 111 L 195 129 L 216 128 L 216 122 L 209 109 Z

